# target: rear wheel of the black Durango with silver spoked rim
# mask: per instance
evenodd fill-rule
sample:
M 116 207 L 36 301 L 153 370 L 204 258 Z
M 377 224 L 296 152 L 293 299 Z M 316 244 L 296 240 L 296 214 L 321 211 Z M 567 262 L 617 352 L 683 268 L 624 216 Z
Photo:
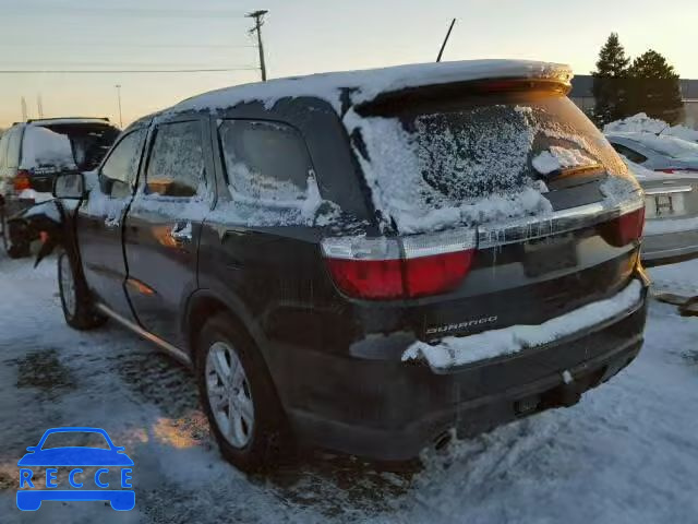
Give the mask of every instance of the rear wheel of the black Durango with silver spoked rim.
M 195 352 L 201 403 L 222 456 L 248 473 L 276 469 L 291 455 L 292 436 L 254 342 L 236 329 L 228 314 L 218 313 L 202 327 Z M 222 371 L 227 365 L 228 377 L 232 377 L 227 388 L 222 385 L 221 369 L 216 371 L 216 358 L 222 358 Z M 236 368 L 242 370 L 242 376 L 232 371 Z M 214 409 L 212 404 L 227 407 Z M 226 424 L 226 419 L 233 422 Z

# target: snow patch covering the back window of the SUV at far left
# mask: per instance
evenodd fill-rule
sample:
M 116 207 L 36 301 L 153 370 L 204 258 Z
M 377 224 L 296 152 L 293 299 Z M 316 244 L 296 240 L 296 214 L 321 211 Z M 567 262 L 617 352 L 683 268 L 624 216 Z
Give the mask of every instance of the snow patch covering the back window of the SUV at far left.
M 40 166 L 76 169 L 70 139 L 39 126 L 27 126 L 22 142 L 21 169 Z

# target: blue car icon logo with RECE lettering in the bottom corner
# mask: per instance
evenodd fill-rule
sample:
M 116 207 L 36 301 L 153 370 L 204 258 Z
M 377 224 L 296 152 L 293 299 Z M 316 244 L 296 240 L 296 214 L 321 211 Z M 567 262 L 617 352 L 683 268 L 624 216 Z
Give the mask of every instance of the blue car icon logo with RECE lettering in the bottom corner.
M 104 437 L 108 448 L 87 445 L 53 446 L 44 449 L 46 440 L 57 433 L 98 433 Z M 55 439 L 53 439 L 55 440 Z M 53 428 L 47 430 L 39 443 L 26 449 L 28 453 L 20 458 L 20 489 L 17 490 L 17 508 L 22 511 L 36 511 L 45 500 L 56 501 L 109 501 L 117 511 L 129 511 L 135 505 L 135 491 L 131 485 L 133 461 L 124 453 L 124 448 L 113 444 L 109 434 L 99 428 Z M 70 468 L 68 475 L 72 489 L 59 489 L 58 468 Z M 83 467 L 97 467 L 94 475 L 88 475 Z M 45 478 L 39 469 L 45 471 Z M 119 487 L 107 481 L 110 468 L 119 469 Z M 113 475 L 113 474 L 111 474 Z M 94 479 L 98 489 L 83 489 Z M 44 484 L 44 486 L 41 486 Z M 110 484 L 112 486 L 110 486 Z M 44 489 L 45 488 L 45 489 Z

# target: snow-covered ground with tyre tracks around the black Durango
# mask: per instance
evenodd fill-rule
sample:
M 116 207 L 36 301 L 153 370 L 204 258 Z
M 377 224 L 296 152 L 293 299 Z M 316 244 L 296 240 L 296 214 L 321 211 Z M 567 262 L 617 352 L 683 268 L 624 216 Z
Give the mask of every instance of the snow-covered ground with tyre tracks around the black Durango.
M 384 473 L 315 453 L 270 478 L 225 463 L 190 373 L 109 324 L 64 325 L 55 261 L 0 255 L 0 522 L 698 522 L 698 318 L 652 301 L 640 357 L 557 409 Z M 698 261 L 650 272 L 698 294 Z M 134 460 L 136 507 L 15 507 L 17 460 L 56 426 L 105 428 Z M 59 477 L 60 479 L 60 477 Z

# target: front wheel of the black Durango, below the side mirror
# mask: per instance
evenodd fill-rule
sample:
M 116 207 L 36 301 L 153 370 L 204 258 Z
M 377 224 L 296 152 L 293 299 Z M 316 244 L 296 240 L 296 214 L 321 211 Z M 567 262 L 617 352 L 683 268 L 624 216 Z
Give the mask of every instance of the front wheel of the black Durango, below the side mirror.
M 71 327 L 86 331 L 107 321 L 106 317 L 95 311 L 82 272 L 65 250 L 60 250 L 58 254 L 58 290 L 65 323 Z

